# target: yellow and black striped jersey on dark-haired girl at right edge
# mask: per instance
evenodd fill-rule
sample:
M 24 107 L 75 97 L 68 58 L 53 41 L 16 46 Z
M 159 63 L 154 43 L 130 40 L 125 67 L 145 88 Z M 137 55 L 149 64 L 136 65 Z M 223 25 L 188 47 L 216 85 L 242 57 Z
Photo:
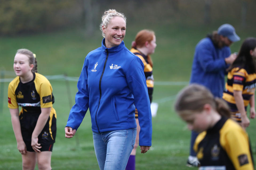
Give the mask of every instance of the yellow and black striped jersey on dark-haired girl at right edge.
M 242 91 L 243 102 L 245 105 L 245 110 L 250 102 L 250 97 L 255 92 L 256 74 L 248 73 L 246 69 L 241 69 L 239 67 L 233 68 L 229 71 L 227 75 L 227 83 L 225 86 L 225 91 L 223 92 L 223 99 L 226 100 L 230 107 L 230 111 L 234 115 L 237 121 L 240 118 L 236 118 L 235 114 L 238 113 L 233 91 Z M 239 119 L 239 120 L 238 120 Z

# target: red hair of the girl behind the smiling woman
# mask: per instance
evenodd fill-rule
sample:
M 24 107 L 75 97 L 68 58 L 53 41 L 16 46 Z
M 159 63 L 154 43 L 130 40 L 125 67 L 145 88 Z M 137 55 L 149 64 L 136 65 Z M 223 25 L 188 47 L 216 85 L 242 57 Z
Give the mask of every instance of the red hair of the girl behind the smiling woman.
M 155 32 L 149 29 L 143 29 L 135 36 L 135 43 L 132 45 L 133 48 L 143 47 L 146 41 L 150 42 L 154 39 Z M 153 61 L 150 55 L 147 55 L 147 61 L 151 67 L 153 67 Z

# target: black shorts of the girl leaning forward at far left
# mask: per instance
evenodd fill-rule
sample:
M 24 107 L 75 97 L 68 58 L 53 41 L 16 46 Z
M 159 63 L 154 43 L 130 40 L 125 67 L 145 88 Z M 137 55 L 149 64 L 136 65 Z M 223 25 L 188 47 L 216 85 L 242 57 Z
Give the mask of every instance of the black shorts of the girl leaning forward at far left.
M 23 141 L 26 144 L 27 151 L 33 152 L 31 147 L 31 137 L 37 124 L 37 120 L 40 113 L 28 113 L 23 112 L 20 114 L 20 123 L 21 123 L 21 134 Z M 43 130 L 38 135 L 38 143 L 41 144 L 41 151 L 52 151 L 53 143 L 55 142 L 56 137 L 56 118 L 53 115 L 52 118 L 48 118 Z

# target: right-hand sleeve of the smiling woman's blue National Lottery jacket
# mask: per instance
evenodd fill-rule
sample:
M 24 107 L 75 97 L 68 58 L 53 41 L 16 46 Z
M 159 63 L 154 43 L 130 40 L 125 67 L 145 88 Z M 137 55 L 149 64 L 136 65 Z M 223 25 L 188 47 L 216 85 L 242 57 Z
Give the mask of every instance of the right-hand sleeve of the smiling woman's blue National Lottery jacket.
M 128 66 L 126 79 L 129 89 L 134 96 L 134 104 L 138 109 L 139 145 L 151 146 L 152 139 L 152 116 L 150 109 L 149 94 L 147 91 L 144 65 L 139 57 L 135 57 Z

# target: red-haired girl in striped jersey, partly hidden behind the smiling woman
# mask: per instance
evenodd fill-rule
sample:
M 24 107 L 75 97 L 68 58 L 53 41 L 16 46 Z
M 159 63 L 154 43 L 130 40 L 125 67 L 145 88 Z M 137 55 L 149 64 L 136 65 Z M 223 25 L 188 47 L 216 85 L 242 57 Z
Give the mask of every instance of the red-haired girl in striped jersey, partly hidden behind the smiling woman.
M 153 62 L 151 60 L 150 54 L 155 52 L 156 48 L 156 38 L 154 31 L 143 29 L 139 31 L 135 37 L 135 41 L 132 42 L 131 52 L 138 56 L 144 64 L 144 74 L 146 77 L 147 90 L 149 94 L 150 103 L 152 101 L 152 94 L 154 88 L 154 78 L 153 78 Z M 136 106 L 135 106 L 136 107 Z M 139 144 L 139 121 L 138 121 L 138 110 L 135 109 L 135 118 L 137 124 L 137 135 L 134 148 L 129 157 L 128 163 L 126 165 L 126 170 L 135 169 L 135 155 L 136 149 Z

